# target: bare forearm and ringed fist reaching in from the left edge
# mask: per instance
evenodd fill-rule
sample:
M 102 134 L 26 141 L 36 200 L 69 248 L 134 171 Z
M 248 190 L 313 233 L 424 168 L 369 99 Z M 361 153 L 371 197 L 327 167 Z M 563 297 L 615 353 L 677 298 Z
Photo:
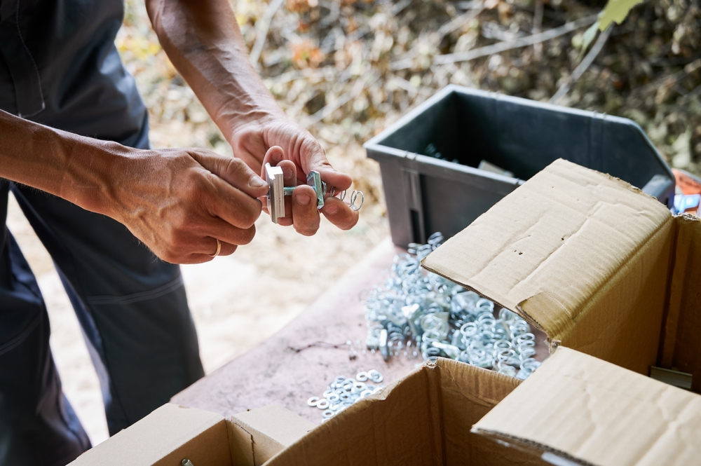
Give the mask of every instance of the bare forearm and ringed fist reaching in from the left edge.
M 81 137 L 0 111 L 0 177 L 125 224 L 156 255 L 203 262 L 255 233 L 265 182 L 204 149 L 139 150 Z

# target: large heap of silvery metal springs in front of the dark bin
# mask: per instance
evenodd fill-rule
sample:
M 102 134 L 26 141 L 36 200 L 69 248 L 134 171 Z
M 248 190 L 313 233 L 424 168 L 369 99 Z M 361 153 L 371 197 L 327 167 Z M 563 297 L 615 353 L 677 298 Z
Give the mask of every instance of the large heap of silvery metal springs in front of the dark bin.
M 409 245 L 395 256 L 390 277 L 365 301 L 366 345 L 383 358 L 449 357 L 525 379 L 540 362 L 528 322 L 506 308 L 421 268 L 421 259 L 442 244 L 434 233 L 428 244 Z

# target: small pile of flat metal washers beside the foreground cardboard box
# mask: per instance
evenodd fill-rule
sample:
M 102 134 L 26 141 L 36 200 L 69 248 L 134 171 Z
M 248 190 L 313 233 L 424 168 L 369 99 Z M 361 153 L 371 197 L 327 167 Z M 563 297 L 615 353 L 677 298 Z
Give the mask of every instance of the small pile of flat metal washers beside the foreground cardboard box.
M 383 388 L 384 385 L 376 385 L 382 381 L 382 374 L 375 369 L 358 372 L 355 378 L 337 376 L 332 383 L 329 383 L 321 397 L 311 397 L 307 400 L 307 404 L 313 408 L 322 409 L 322 422 L 325 422 L 359 399 Z

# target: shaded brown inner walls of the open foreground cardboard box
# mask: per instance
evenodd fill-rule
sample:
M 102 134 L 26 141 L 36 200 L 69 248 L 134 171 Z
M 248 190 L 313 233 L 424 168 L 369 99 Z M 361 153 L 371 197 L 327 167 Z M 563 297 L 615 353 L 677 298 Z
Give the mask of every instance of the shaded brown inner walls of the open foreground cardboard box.
M 545 465 L 470 433 L 519 383 L 438 359 L 331 418 L 266 466 Z

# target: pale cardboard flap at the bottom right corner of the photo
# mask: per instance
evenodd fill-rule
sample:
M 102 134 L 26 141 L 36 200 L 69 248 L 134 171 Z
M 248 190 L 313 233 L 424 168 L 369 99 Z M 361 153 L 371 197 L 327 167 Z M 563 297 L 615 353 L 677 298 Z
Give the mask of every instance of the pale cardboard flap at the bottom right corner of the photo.
M 701 397 L 560 347 L 472 432 L 555 465 L 692 465 Z

